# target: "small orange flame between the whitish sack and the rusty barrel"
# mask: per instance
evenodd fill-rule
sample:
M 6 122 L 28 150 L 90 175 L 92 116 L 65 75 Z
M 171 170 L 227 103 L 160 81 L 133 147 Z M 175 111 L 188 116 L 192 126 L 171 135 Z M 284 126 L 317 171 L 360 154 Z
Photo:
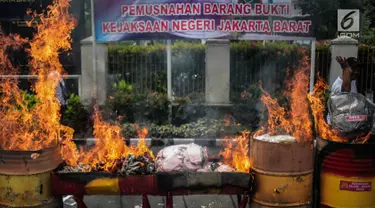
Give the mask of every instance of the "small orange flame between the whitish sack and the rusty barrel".
M 250 171 L 249 141 L 250 132 L 244 131 L 241 136 L 224 138 L 224 151 L 220 152 L 224 163 L 233 167 L 237 172 L 248 173 Z

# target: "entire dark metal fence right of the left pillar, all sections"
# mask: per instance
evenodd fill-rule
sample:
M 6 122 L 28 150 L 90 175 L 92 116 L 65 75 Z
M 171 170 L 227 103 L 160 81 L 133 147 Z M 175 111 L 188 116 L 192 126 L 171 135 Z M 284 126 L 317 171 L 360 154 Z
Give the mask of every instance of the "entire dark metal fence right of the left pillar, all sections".
M 231 95 L 246 89 L 252 84 L 263 81 L 267 90 L 280 89 L 288 67 L 296 66 L 299 57 L 296 53 L 288 55 L 278 52 L 255 50 L 244 47 L 240 51 L 231 46 L 230 57 L 230 87 Z M 144 50 L 147 50 L 145 46 Z M 361 47 L 359 59 L 365 63 L 363 68 L 360 89 L 372 97 L 375 49 Z M 315 72 L 328 80 L 331 65 L 331 52 L 329 48 L 316 50 Z M 172 86 L 175 97 L 204 95 L 205 91 L 205 50 L 204 46 L 179 49 L 172 48 Z M 126 53 L 110 50 L 109 74 L 112 82 L 125 80 L 134 85 L 138 93 L 148 91 L 167 92 L 167 63 L 166 48 L 160 47 L 148 53 Z

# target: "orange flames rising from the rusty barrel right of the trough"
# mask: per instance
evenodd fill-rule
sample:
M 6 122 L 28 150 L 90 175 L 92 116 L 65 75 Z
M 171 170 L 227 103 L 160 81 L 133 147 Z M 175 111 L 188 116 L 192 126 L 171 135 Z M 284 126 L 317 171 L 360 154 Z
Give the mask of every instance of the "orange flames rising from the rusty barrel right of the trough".
M 304 53 L 304 52 L 303 52 Z M 312 121 L 309 113 L 307 92 L 309 87 L 309 58 L 304 56 L 293 77 L 288 80 L 284 95 L 289 100 L 290 110 L 281 107 L 276 99 L 266 92 L 262 86 L 262 102 L 268 110 L 267 127 L 262 127 L 255 136 L 262 134 L 288 134 L 297 141 L 312 141 Z

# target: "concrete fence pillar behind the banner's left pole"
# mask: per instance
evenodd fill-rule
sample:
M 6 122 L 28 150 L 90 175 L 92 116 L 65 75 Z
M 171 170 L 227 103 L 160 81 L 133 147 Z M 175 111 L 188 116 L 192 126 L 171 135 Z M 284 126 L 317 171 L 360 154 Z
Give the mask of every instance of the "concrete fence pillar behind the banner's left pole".
M 93 57 L 92 57 L 92 37 L 81 41 L 81 70 L 82 70 L 82 96 L 83 104 L 89 105 L 94 93 L 97 93 L 97 104 L 104 104 L 107 99 L 107 75 L 108 75 L 108 45 L 104 43 L 96 44 L 96 83 L 93 82 Z

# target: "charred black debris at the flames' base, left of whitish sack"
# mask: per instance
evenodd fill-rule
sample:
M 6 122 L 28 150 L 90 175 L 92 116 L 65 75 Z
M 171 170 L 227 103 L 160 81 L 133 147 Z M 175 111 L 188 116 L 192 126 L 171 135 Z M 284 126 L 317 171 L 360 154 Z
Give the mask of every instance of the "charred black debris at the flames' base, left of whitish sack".
M 65 166 L 60 172 L 104 172 L 105 164 L 97 163 L 95 167 L 90 165 L 78 165 L 75 167 Z M 155 173 L 155 163 L 148 155 L 143 156 L 128 155 L 115 160 L 109 172 L 118 175 L 152 175 Z

